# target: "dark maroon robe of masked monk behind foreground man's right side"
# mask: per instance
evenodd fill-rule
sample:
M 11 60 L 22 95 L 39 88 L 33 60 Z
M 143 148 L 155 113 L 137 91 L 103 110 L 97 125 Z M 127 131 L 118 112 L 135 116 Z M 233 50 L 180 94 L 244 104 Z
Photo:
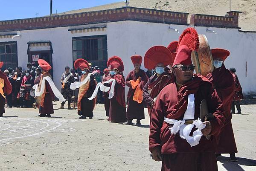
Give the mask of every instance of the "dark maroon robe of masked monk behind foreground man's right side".
M 233 133 L 230 113 L 231 104 L 235 93 L 235 82 L 233 75 L 226 69 L 224 64 L 207 75 L 212 82 L 214 89 L 221 98 L 225 110 L 226 121 L 219 136 L 216 136 L 217 154 L 237 153 L 235 136 Z

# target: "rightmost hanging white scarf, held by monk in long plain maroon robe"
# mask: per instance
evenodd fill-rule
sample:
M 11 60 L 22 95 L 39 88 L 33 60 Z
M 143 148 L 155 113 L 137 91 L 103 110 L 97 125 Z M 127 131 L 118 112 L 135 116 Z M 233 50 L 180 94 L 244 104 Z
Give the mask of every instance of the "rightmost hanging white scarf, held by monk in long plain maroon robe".
M 110 82 L 112 82 L 111 87 L 107 87 L 107 86 L 105 86 L 105 85 L 102 84 L 102 83 L 98 83 L 98 84 L 96 85 L 95 90 L 93 91 L 93 95 L 92 95 L 91 97 L 89 97 L 88 99 L 89 99 L 89 100 L 92 100 L 92 99 L 94 99 L 94 98 L 97 96 L 99 87 L 100 87 L 100 90 L 101 90 L 102 92 L 108 92 L 108 91 L 109 91 L 108 99 L 112 99 L 113 96 L 115 95 L 114 90 L 115 90 L 116 80 L 113 79 L 113 78 L 111 78 L 110 80 L 105 81 L 104 83 L 110 83 Z

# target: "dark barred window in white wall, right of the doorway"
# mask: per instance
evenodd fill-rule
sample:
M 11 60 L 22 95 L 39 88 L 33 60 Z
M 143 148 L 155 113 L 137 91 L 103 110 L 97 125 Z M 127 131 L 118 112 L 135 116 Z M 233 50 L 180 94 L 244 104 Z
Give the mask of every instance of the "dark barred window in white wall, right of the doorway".
M 107 35 L 76 37 L 72 40 L 73 63 L 76 59 L 83 58 L 100 70 L 107 67 Z

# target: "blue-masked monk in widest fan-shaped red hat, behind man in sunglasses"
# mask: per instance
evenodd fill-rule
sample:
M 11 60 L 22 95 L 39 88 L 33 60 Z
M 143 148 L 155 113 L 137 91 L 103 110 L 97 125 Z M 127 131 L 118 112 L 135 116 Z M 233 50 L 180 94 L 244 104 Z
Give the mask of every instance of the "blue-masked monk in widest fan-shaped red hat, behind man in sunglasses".
M 173 61 L 174 57 L 169 49 L 164 46 L 153 46 L 145 54 L 145 68 L 156 71 L 143 87 L 143 99 L 148 106 L 149 116 L 151 116 L 152 107 L 157 99 L 157 95 L 163 87 L 172 81 L 172 75 L 169 72 L 165 72 L 164 67 L 172 65 Z

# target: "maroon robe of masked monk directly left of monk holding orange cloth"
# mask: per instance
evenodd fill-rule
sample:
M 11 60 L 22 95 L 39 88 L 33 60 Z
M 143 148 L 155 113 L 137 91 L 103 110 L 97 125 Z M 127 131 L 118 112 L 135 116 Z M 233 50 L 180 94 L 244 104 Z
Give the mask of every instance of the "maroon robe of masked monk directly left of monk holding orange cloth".
M 110 99 L 109 121 L 110 122 L 126 122 L 125 109 L 125 78 L 121 74 L 113 76 L 116 80 L 114 96 Z

